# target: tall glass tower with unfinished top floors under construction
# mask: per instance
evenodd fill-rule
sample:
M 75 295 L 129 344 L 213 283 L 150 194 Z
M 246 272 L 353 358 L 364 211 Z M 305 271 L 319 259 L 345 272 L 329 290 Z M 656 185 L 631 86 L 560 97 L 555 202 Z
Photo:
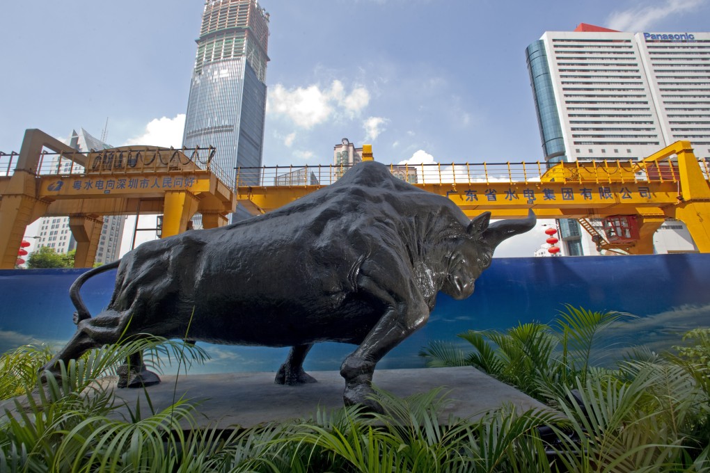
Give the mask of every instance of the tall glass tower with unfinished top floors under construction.
M 205 2 L 182 145 L 216 148 L 211 169 L 231 186 L 235 167 L 261 166 L 267 46 L 258 0 Z

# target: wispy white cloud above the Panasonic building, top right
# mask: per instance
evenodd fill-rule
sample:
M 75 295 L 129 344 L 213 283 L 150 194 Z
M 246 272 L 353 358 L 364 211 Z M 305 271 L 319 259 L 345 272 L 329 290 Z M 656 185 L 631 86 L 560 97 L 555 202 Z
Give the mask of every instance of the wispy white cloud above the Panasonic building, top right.
M 619 31 L 638 32 L 652 28 L 657 21 L 668 16 L 691 13 L 705 0 L 665 0 L 662 4 L 640 4 L 628 10 L 614 11 L 608 17 L 608 28 Z

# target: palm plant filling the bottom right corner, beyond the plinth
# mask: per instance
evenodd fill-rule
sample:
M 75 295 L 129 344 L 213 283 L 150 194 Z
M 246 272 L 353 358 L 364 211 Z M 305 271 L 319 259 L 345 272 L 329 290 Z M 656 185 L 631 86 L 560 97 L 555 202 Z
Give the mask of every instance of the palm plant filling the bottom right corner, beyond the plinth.
M 581 403 L 559 399 L 581 443 L 567 442 L 562 462 L 579 472 L 705 471 L 710 464 L 692 436 L 699 401 L 692 379 L 670 364 L 629 366 L 633 378 L 577 381 Z M 567 439 L 566 436 L 560 436 Z M 692 451 L 692 444 L 696 451 Z M 693 455 L 694 453 L 694 455 Z M 701 455 L 699 454 L 701 453 Z

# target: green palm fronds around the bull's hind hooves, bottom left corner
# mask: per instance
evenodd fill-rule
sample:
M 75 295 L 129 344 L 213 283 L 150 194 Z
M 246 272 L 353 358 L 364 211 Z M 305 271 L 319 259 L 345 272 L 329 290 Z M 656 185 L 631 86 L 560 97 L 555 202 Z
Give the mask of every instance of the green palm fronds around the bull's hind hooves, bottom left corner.
M 36 357 L 32 350 L 20 352 Z M 116 421 L 111 418 L 112 391 L 97 381 L 136 352 L 147 353 L 146 362 L 157 370 L 164 363 L 160 357 L 185 362 L 207 357 L 198 347 L 146 336 L 91 350 L 67 365 L 60 362 L 60 379 L 45 376 L 40 381 L 35 362 L 21 363 L 26 371 L 16 376 L 26 395 L 14 399 L 14 408 L 6 408 L 0 421 L 0 471 L 74 472 L 97 465 L 115 471 L 163 458 L 163 439 L 181 421 L 190 423 L 190 408 L 180 401 L 147 418 Z M 11 354 L 17 357 L 18 352 Z

